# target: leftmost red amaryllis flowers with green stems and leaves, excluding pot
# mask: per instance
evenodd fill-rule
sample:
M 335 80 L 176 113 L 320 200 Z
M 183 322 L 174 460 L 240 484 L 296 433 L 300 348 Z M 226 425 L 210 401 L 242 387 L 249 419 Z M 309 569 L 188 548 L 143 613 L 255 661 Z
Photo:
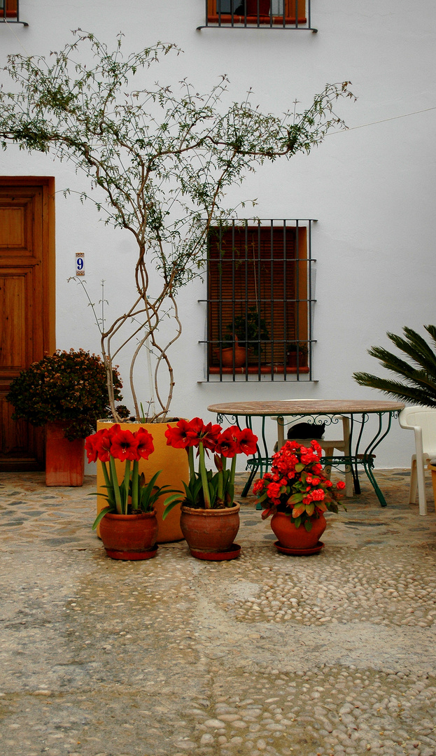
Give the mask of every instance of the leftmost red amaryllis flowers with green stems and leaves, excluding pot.
M 119 515 L 152 512 L 159 496 L 171 494 L 175 490 L 168 485 L 160 488 L 156 485 L 156 479 L 162 470 L 156 472 L 149 483 L 145 481 L 144 473 L 139 475 L 139 460 L 147 460 L 154 451 L 153 436 L 145 428 L 139 428 L 132 433 L 130 430 L 122 430 L 116 423 L 88 436 L 85 440 L 85 450 L 88 462 L 100 460 L 107 489 L 107 494 L 103 495 L 108 501 L 108 506 L 98 514 L 92 526 L 93 530 L 108 512 Z M 115 460 L 125 463 L 121 484 L 116 475 Z

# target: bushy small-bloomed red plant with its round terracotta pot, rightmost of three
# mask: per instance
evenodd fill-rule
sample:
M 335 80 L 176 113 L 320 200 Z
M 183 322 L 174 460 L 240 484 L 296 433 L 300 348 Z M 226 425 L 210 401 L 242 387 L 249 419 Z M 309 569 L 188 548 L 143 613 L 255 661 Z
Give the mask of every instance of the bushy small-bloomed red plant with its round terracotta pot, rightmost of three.
M 301 556 L 320 551 L 324 512 L 338 512 L 339 491 L 345 483 L 336 483 L 335 490 L 323 473 L 322 454 L 315 440 L 308 447 L 287 441 L 273 454 L 271 472 L 253 487 L 264 510 L 262 519 L 272 515 L 271 529 L 278 539 L 274 545 L 283 553 Z

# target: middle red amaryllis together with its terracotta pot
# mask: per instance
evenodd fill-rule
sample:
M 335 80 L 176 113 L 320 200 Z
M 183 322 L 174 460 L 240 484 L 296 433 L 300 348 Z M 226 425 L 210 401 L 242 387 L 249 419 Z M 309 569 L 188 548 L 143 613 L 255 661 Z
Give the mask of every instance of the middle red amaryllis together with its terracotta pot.
M 213 561 L 235 559 L 240 554 L 240 547 L 233 543 L 240 526 L 240 505 L 233 500 L 237 454 L 255 454 L 257 437 L 248 428 L 237 426 L 222 431 L 220 425 L 205 425 L 199 417 L 190 422 L 179 420 L 165 435 L 169 446 L 186 449 L 190 480 L 184 484 L 183 494 L 178 491 L 166 500 L 164 518 L 181 504 L 181 530 L 192 556 Z M 194 448 L 198 449 L 198 471 Z M 206 469 L 209 451 L 214 454 L 215 474 Z

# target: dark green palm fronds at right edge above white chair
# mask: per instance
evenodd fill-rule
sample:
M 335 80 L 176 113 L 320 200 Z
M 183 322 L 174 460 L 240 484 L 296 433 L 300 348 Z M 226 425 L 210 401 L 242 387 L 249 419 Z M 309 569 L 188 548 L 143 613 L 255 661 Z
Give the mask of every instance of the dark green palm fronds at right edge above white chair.
M 407 404 L 436 407 L 436 352 L 432 349 L 432 346 L 436 346 L 436 326 L 424 327 L 431 336 L 431 344 L 412 328 L 404 327 L 406 338 L 394 333 L 387 334 L 410 361 L 404 361 L 381 346 L 368 349 L 368 354 L 378 359 L 382 367 L 400 376 L 403 381 L 379 378 L 370 373 L 353 373 L 357 383 L 379 389 L 396 399 L 403 399 Z

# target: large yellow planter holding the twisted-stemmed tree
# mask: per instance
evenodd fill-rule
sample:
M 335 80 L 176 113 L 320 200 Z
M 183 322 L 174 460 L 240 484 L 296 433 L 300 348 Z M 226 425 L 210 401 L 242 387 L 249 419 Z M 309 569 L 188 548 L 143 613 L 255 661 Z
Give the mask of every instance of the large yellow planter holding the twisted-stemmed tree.
M 176 423 L 168 423 L 174 427 Z M 101 428 L 110 428 L 113 426 L 112 420 L 98 420 L 97 430 Z M 120 423 L 122 429 L 135 432 L 138 428 L 145 428 L 153 436 L 154 451 L 150 454 L 148 460 L 140 460 L 139 472 L 144 472 L 147 482 L 153 477 L 155 472 L 162 470 L 156 481 L 157 485 L 169 485 L 171 488 L 183 490 L 182 481 L 188 482 L 189 468 L 187 463 L 187 453 L 184 449 L 173 449 L 166 445 L 165 430 L 167 423 Z M 115 460 L 116 471 L 119 483 L 124 476 L 124 463 Z M 97 492 L 104 493 L 104 476 L 101 469 L 101 463 L 97 462 Z M 157 543 L 167 544 L 170 541 L 181 541 L 184 535 L 180 527 L 180 506 L 175 507 L 169 516 L 162 522 L 163 502 L 165 496 L 161 496 L 156 502 L 156 517 L 158 522 Z M 97 514 L 107 506 L 107 501 L 102 496 L 97 496 Z M 97 534 L 100 535 L 100 525 L 97 527 Z

